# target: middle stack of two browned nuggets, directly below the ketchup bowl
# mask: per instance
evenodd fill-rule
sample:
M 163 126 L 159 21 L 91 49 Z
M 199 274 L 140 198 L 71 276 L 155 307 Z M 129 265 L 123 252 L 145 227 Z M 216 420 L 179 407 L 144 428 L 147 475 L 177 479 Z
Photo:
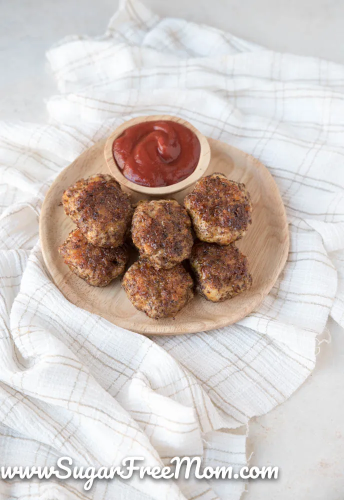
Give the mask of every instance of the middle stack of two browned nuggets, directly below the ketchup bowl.
M 151 318 L 174 316 L 193 297 L 192 278 L 181 264 L 193 244 L 186 210 L 174 199 L 142 200 L 131 236 L 140 257 L 123 278 L 128 298 Z

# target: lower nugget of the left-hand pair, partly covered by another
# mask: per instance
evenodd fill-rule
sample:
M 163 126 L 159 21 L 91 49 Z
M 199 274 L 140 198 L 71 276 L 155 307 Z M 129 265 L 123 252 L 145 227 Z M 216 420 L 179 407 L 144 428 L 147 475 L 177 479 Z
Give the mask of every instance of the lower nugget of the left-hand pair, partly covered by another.
M 69 233 L 58 253 L 72 272 L 93 286 L 106 286 L 124 272 L 129 259 L 126 245 L 116 248 L 94 246 L 80 229 Z

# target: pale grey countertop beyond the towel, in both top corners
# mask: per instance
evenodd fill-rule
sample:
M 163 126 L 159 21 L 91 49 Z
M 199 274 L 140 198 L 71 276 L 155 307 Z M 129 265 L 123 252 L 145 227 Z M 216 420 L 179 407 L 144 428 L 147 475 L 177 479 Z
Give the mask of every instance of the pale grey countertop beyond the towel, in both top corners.
M 160 15 L 225 29 L 268 48 L 344 63 L 342 0 L 146 0 Z M 0 116 L 43 121 L 56 91 L 45 50 L 67 34 L 101 34 L 118 0 L 0 0 Z

